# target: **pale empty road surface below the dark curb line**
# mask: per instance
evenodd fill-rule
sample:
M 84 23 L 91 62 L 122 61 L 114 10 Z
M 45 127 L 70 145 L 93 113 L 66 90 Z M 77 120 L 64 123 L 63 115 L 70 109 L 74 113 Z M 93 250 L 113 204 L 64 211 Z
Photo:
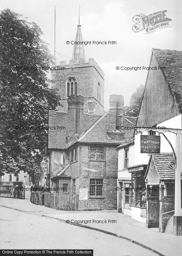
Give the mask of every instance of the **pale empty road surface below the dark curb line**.
M 1 249 L 94 249 L 94 256 L 156 256 L 155 253 L 99 231 L 0 207 Z

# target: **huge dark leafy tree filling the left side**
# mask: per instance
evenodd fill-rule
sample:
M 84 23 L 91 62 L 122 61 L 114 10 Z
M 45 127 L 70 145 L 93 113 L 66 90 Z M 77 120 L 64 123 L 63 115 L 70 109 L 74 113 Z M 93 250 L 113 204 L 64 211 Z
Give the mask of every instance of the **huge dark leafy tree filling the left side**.
M 52 56 L 40 27 L 6 9 L 0 30 L 0 170 L 16 175 L 45 157 L 47 130 L 41 127 L 48 126 L 48 110 L 56 110 L 59 97 L 41 68 L 50 67 Z

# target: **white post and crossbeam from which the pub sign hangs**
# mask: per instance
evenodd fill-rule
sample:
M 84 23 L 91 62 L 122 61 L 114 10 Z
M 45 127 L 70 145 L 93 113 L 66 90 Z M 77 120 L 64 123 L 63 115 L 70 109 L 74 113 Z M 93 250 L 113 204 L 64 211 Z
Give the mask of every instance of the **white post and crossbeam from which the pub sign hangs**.
M 135 127 L 137 132 L 149 131 L 146 127 Z M 182 129 L 165 128 L 155 129 L 156 132 L 173 132 L 176 134 L 176 169 L 175 169 L 175 195 L 174 195 L 174 216 L 173 216 L 173 233 L 176 236 L 182 235 L 182 215 L 181 215 L 181 134 Z

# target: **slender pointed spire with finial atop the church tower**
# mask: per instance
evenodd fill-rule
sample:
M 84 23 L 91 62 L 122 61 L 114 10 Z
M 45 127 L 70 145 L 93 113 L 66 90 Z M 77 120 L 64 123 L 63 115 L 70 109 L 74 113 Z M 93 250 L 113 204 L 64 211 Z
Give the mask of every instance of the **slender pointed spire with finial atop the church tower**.
M 80 25 L 80 6 L 79 6 L 79 25 L 77 26 L 77 31 L 76 31 L 76 38 L 75 42 L 83 42 L 82 38 L 82 32 L 81 32 L 81 25 Z M 85 51 L 83 44 L 75 44 L 74 49 L 73 49 L 73 55 L 72 55 L 72 60 L 75 60 L 76 63 L 79 63 L 79 60 L 83 59 L 86 61 L 85 57 Z

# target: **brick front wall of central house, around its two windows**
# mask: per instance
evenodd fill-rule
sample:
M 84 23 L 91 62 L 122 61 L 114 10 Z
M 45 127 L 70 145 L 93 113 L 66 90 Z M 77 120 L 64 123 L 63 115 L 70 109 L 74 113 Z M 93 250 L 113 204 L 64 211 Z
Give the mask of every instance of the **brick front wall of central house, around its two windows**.
M 118 153 L 115 146 L 104 149 L 104 161 L 92 161 L 89 147 L 82 146 L 79 189 L 85 195 L 79 195 L 79 210 L 103 210 L 117 208 L 117 163 Z M 90 178 L 103 178 L 103 197 L 90 197 Z

